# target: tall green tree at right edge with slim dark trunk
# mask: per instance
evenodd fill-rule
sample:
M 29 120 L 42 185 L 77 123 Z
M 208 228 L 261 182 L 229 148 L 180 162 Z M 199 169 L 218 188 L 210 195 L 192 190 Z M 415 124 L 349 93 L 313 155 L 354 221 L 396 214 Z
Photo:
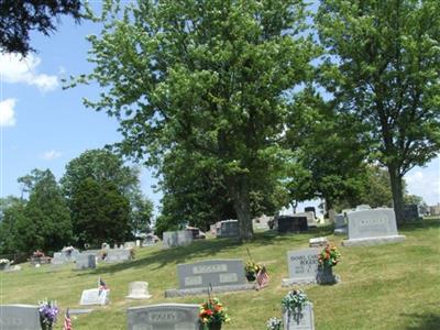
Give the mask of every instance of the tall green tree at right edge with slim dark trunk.
M 403 178 L 440 148 L 440 2 L 321 0 L 322 85 L 370 125 L 403 221 Z

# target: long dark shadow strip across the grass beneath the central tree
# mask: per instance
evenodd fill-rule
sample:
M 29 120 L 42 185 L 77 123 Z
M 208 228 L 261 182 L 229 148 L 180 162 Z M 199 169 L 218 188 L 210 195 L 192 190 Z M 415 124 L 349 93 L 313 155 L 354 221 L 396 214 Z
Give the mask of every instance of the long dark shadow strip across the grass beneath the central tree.
M 329 235 L 332 233 L 332 227 L 319 227 L 308 230 L 304 233 L 288 233 L 279 235 L 274 231 L 266 231 L 255 233 L 252 240 L 246 241 L 253 246 L 255 245 L 268 245 L 274 243 L 289 242 L 304 242 L 305 238 L 316 235 Z M 106 267 L 97 268 L 92 272 L 78 273 L 77 276 L 90 275 L 90 274 L 111 274 L 128 268 L 145 267 L 151 264 L 157 264 L 154 270 L 162 268 L 168 264 L 183 264 L 193 258 L 216 258 L 216 254 L 219 252 L 228 252 L 234 250 L 237 255 L 237 248 L 241 246 L 235 239 L 215 239 L 215 240 L 198 240 L 188 246 L 179 246 L 173 249 L 164 249 L 150 253 L 145 257 L 135 258 L 133 261 L 108 264 Z M 246 258 L 246 251 L 243 249 L 242 258 Z M 238 256 L 234 256 L 238 257 Z

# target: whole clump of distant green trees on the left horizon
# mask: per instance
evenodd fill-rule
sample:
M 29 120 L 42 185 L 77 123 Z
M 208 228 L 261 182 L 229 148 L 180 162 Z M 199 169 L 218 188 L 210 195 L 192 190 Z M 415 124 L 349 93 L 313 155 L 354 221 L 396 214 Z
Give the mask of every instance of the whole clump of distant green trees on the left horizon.
M 50 169 L 33 169 L 18 179 L 21 197 L 1 199 L 0 253 L 100 246 L 147 232 L 153 204 L 139 175 L 106 150 L 70 161 L 59 183 Z

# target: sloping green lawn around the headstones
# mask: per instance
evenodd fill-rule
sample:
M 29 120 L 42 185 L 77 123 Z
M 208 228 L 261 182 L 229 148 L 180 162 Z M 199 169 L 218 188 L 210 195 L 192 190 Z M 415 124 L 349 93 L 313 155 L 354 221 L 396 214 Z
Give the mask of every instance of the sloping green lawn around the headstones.
M 315 322 L 321 329 L 440 329 L 440 219 L 424 220 L 422 224 L 399 230 L 406 241 L 373 248 L 340 248 L 342 262 L 334 268 L 342 283 L 333 286 L 309 285 L 304 289 L 315 305 Z M 333 237 L 330 227 L 318 228 L 307 234 L 276 237 L 260 232 L 243 245 L 232 240 L 198 241 L 186 248 L 161 250 L 144 248 L 136 258 L 123 264 L 100 264 L 97 270 L 73 271 L 73 265 L 53 270 L 51 266 L 21 272 L 1 273 L 2 304 L 36 304 L 52 298 L 62 308 L 78 308 L 82 289 L 94 288 L 99 276 L 111 288 L 110 305 L 96 307 L 89 315 L 74 319 L 80 330 L 125 329 L 125 309 L 158 302 L 199 304 L 206 297 L 164 298 L 167 288 L 176 288 L 179 263 L 207 258 L 252 256 L 267 265 L 270 286 L 261 292 L 219 294 L 228 307 L 231 322 L 226 330 L 265 329 L 270 317 L 280 317 L 280 299 L 288 288 L 280 286 L 287 277 L 286 252 L 306 248 L 308 240 L 326 235 L 337 245 L 341 237 Z M 128 301 L 128 286 L 133 280 L 150 284 L 153 298 Z M 63 319 L 63 318 L 61 318 Z M 62 329 L 62 321 L 55 329 Z

